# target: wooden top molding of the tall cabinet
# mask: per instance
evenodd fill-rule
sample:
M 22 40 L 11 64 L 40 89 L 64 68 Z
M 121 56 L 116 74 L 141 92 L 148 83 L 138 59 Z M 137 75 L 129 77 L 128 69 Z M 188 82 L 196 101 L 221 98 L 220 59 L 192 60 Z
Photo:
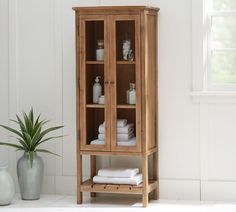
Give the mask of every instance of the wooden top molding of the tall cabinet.
M 141 11 L 141 10 L 159 11 L 160 9 L 157 7 L 147 7 L 147 6 L 95 6 L 95 7 L 73 7 L 73 10 L 77 12 L 84 12 L 84 11 L 108 12 L 108 11 Z

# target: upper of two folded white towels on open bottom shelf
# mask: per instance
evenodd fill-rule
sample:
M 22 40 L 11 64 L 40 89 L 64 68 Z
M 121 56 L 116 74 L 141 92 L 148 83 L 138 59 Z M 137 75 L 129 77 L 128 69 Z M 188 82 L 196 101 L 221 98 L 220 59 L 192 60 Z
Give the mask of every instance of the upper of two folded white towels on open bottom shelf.
M 139 173 L 138 168 L 103 168 L 98 170 L 100 177 L 134 177 Z

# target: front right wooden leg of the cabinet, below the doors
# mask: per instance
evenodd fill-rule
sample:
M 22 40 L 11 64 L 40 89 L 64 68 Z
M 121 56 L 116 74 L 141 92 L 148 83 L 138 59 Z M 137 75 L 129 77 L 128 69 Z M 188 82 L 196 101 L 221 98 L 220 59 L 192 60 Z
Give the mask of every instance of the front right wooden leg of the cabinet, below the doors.
M 148 206 L 148 156 L 142 157 L 143 207 Z

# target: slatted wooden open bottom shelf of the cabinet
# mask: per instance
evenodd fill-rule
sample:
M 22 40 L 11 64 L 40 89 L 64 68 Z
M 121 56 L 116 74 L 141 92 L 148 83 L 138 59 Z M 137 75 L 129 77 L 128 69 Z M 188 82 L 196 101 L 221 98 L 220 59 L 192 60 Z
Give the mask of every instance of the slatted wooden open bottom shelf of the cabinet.
M 157 181 L 149 180 L 148 192 L 152 192 L 157 188 Z M 98 193 L 118 193 L 118 194 L 142 194 L 143 185 L 116 185 L 116 184 L 98 184 L 93 183 L 91 179 L 84 181 L 81 184 L 82 192 L 98 192 Z

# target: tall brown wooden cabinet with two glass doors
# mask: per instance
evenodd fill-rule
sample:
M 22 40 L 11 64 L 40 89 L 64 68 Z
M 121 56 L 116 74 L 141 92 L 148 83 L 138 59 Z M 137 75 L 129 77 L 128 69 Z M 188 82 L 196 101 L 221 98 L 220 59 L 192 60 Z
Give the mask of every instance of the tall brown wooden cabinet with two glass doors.
M 76 7 L 77 61 L 77 162 L 78 203 L 82 192 L 142 194 L 158 198 L 157 179 L 157 12 L 158 8 Z M 127 46 L 130 44 L 128 58 Z M 104 43 L 103 59 L 97 58 L 98 42 Z M 132 51 L 130 51 L 130 49 Z M 104 104 L 94 103 L 93 85 L 100 77 Z M 136 104 L 128 104 L 127 90 L 135 84 Z M 118 119 L 132 124 L 133 142 L 117 139 Z M 105 123 L 105 124 L 104 124 Z M 98 141 L 103 124 L 103 140 Z M 129 130 L 129 129 L 128 129 Z M 95 142 L 95 143 L 94 143 Z M 91 155 L 91 178 L 96 174 L 96 156 L 142 157 L 143 183 L 139 186 L 110 188 L 82 182 L 82 155 Z M 148 176 L 148 158 L 153 158 L 153 174 Z

